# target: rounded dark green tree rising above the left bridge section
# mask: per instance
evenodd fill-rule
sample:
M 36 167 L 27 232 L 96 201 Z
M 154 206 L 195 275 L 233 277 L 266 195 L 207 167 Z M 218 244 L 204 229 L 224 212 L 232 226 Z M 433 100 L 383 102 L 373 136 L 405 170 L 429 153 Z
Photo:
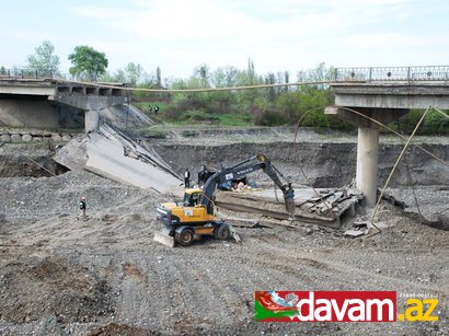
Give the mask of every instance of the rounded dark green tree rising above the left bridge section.
M 99 76 L 103 74 L 107 68 L 105 54 L 89 46 L 74 47 L 74 51 L 69 55 L 69 60 L 73 65 L 69 70 L 70 74 L 77 79 L 96 81 Z

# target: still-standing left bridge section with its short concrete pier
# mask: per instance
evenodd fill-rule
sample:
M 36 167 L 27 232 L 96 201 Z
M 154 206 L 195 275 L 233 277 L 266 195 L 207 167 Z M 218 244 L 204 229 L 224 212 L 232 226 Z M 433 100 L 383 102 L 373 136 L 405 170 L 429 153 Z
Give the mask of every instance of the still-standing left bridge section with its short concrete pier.
M 11 126 L 55 128 L 72 116 L 83 118 L 89 131 L 97 127 L 99 111 L 128 102 L 126 86 L 120 83 L 0 77 L 0 123 L 3 119 Z

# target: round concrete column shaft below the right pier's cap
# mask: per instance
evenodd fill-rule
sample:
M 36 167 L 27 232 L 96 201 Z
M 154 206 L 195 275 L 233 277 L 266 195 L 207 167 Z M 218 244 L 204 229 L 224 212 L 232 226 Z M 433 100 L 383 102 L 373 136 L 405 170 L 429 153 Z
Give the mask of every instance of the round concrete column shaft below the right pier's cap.
M 368 208 L 376 206 L 379 157 L 379 128 L 359 127 L 357 142 L 357 188 Z

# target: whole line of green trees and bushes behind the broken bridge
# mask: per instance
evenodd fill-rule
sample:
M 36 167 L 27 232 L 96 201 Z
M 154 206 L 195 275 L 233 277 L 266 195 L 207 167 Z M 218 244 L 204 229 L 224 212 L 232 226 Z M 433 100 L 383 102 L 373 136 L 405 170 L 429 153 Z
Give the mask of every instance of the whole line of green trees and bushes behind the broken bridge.
M 27 67 L 39 73 L 59 73 L 59 57 L 49 40 L 43 42 L 35 48 L 35 54 L 26 59 Z M 324 107 L 332 105 L 333 94 L 330 88 L 323 84 L 288 85 L 290 73 L 256 72 L 254 62 L 249 59 L 246 69 L 240 70 L 232 66 L 211 70 L 208 65 L 202 63 L 194 69 L 187 79 L 162 79 L 161 69 L 146 72 L 142 66 L 129 62 L 125 68 L 115 72 L 107 72 L 107 58 L 90 46 L 77 46 L 68 56 L 72 62 L 70 74 L 78 80 L 126 82 L 133 86 L 150 89 L 200 89 L 200 88 L 232 88 L 260 84 L 283 84 L 264 89 L 215 91 L 196 93 L 145 93 L 133 92 L 131 99 L 140 102 L 162 101 L 168 105 L 160 114 L 168 120 L 182 120 L 188 116 L 200 120 L 214 121 L 217 114 L 243 114 L 256 125 L 297 124 L 301 126 L 349 129 L 350 125 L 334 120 L 324 114 Z M 295 82 L 320 82 L 331 80 L 334 68 L 325 63 L 314 69 L 301 70 Z M 400 124 L 403 130 L 413 129 L 415 119 L 422 115 L 414 111 L 404 116 Z M 449 123 L 444 116 L 431 115 L 421 129 L 422 134 L 449 134 Z M 392 125 L 398 127 L 396 125 Z

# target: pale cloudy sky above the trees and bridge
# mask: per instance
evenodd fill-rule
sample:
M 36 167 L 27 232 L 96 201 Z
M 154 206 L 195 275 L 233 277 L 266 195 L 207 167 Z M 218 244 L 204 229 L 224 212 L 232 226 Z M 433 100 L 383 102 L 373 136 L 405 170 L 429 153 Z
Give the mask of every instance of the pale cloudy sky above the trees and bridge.
M 257 73 L 449 63 L 447 0 L 0 0 L 0 66 L 26 65 L 43 40 L 62 72 L 77 45 L 186 78 L 254 61 Z

